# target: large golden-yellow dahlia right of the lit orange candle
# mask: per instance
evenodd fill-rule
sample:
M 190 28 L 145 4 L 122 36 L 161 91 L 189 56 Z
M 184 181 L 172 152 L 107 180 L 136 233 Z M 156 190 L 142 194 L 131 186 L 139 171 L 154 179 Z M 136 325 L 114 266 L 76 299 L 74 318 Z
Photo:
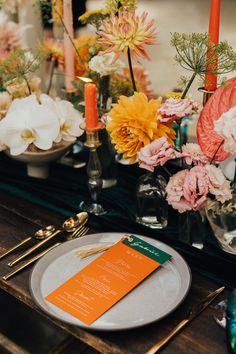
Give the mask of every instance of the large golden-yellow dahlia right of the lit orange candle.
M 134 162 L 142 147 L 165 136 L 173 144 L 175 132 L 158 119 L 161 98 L 148 101 L 144 93 L 121 96 L 109 113 L 107 131 L 118 153 Z

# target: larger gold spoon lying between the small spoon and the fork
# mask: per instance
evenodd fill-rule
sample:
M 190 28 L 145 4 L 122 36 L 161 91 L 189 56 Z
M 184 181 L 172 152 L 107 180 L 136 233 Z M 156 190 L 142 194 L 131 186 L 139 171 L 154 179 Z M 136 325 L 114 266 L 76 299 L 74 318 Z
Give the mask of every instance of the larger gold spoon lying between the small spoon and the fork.
M 83 215 L 81 215 L 81 214 L 83 214 Z M 69 219 L 65 220 L 64 223 L 62 224 L 63 229 L 54 230 L 53 232 L 51 232 L 51 234 L 49 236 L 47 236 L 47 238 L 43 239 L 41 242 L 37 243 L 33 247 L 29 248 L 27 251 L 23 252 L 19 257 L 15 258 L 13 261 L 8 263 L 7 265 L 9 267 L 13 267 L 16 263 L 20 262 L 22 259 L 24 259 L 28 255 L 30 255 L 32 252 L 36 251 L 38 248 L 43 246 L 46 242 L 51 240 L 56 235 L 62 233 L 63 231 L 70 233 L 71 236 L 70 237 L 68 236 L 67 239 L 73 239 L 73 238 L 79 236 L 79 234 L 77 235 L 79 228 L 81 228 L 88 220 L 88 214 L 87 215 L 85 215 L 85 214 L 87 214 L 87 213 L 84 213 L 84 212 L 79 213 L 76 216 L 70 217 Z M 65 227 L 65 225 L 66 225 L 66 227 Z M 71 228 L 69 228 L 69 225 L 71 226 Z

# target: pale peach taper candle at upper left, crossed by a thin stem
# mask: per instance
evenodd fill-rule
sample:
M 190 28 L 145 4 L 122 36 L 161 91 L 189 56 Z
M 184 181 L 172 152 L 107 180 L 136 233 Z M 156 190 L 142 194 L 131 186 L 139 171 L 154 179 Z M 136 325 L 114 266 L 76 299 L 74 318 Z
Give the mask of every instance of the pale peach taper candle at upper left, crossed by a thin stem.
M 74 39 L 73 13 L 71 0 L 63 1 L 63 21 L 69 35 L 64 32 L 65 52 L 65 87 L 67 92 L 73 92 L 75 79 L 75 52 L 70 38 Z M 70 36 L 70 38 L 69 38 Z

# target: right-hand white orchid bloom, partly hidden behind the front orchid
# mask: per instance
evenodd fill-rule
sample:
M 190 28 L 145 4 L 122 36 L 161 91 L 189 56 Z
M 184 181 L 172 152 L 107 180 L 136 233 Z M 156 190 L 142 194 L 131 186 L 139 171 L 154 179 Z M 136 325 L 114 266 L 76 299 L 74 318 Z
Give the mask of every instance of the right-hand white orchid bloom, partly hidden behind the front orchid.
M 40 95 L 40 102 L 57 116 L 60 132 L 54 140 L 56 143 L 59 143 L 61 140 L 73 142 L 76 140 L 76 137 L 83 134 L 80 125 L 84 122 L 84 119 L 73 107 L 72 103 L 60 100 L 59 98 L 54 101 L 46 94 Z

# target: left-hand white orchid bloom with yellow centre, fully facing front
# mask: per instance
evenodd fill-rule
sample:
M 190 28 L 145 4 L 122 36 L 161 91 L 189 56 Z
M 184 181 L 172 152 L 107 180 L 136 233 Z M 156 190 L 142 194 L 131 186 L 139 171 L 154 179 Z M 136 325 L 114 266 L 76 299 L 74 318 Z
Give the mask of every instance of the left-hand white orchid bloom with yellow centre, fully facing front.
M 59 131 L 56 114 L 30 95 L 11 104 L 0 122 L 0 141 L 12 155 L 19 155 L 32 143 L 41 150 L 50 149 Z

